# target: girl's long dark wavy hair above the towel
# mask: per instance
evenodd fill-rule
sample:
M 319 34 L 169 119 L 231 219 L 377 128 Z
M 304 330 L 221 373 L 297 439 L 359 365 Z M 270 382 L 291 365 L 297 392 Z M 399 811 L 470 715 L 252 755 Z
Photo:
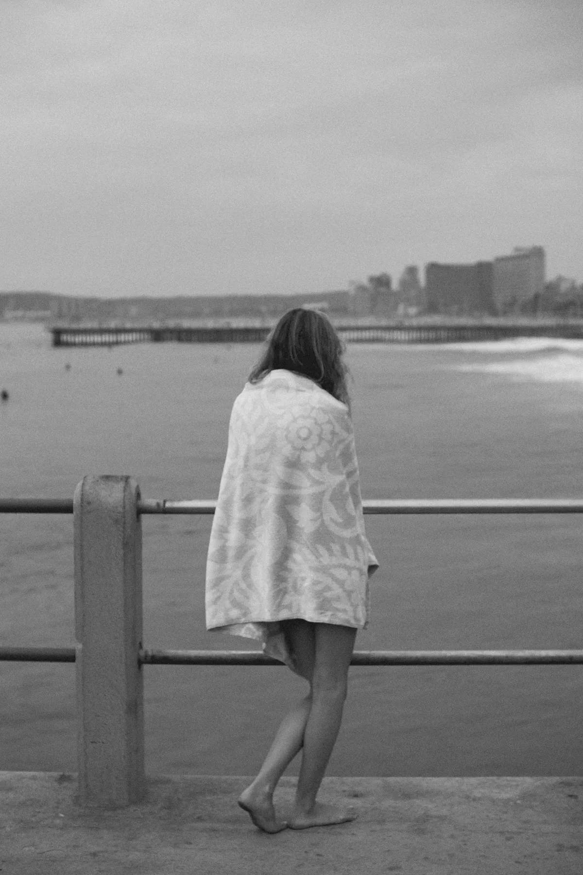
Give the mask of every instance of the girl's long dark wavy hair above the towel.
M 257 383 L 280 367 L 309 377 L 350 410 L 344 343 L 320 311 L 295 307 L 284 313 L 267 338 L 267 349 L 249 382 Z

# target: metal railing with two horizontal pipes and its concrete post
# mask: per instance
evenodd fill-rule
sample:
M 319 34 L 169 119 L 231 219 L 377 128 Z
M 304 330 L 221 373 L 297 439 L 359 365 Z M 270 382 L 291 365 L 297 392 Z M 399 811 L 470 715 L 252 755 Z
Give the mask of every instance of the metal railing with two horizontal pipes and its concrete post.
M 146 795 L 143 665 L 282 666 L 252 650 L 142 643 L 143 514 L 213 514 L 211 500 L 142 499 L 129 477 L 86 477 L 70 499 L 0 499 L 0 513 L 73 514 L 75 647 L 0 648 L 10 662 L 74 662 L 78 799 L 109 807 Z M 581 514 L 580 499 L 367 500 L 365 514 Z M 353 666 L 574 665 L 571 650 L 355 651 Z

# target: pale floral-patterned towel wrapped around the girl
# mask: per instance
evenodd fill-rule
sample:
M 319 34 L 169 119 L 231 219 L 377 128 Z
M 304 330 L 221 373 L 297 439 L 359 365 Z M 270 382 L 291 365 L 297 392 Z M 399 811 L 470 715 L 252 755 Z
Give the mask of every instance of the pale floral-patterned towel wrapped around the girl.
M 346 405 L 275 370 L 233 404 L 206 564 L 206 627 L 294 669 L 280 620 L 364 628 L 378 562 L 364 535 Z

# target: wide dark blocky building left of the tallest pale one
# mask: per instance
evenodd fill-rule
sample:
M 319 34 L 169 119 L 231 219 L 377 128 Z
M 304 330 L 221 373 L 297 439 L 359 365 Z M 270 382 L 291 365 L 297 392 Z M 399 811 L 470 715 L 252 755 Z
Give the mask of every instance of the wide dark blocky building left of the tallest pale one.
M 492 299 L 492 262 L 475 264 L 439 264 L 425 268 L 427 310 L 450 316 L 490 313 Z

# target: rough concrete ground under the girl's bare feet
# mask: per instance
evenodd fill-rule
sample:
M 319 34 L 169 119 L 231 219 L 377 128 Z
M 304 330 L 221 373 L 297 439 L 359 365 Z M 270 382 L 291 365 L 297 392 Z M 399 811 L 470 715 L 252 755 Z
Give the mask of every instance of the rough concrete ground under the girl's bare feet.
M 0 772 L 2 875 L 288 872 L 583 873 L 583 778 L 328 778 L 353 823 L 268 836 L 236 804 L 246 778 L 161 776 L 99 811 L 74 774 Z M 295 779 L 276 805 L 285 814 Z

